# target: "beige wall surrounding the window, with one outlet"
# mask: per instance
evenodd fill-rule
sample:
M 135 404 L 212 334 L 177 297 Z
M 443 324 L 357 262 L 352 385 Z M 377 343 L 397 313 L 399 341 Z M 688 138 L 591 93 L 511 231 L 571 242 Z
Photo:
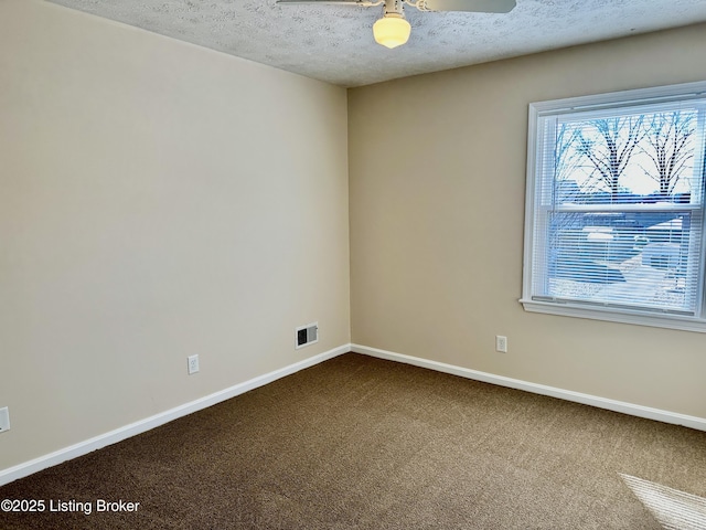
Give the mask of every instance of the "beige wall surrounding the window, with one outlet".
M 355 343 L 706 417 L 706 336 L 525 312 L 527 105 L 706 78 L 706 25 L 349 92 Z M 509 353 L 494 336 L 509 337 Z

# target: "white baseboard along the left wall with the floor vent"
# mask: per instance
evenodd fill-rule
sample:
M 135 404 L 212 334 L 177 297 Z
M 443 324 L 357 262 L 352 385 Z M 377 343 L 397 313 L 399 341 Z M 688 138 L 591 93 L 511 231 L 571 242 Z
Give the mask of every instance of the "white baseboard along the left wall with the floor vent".
M 211 395 L 206 395 L 190 403 L 170 409 L 169 411 L 161 412 L 153 416 L 146 417 L 145 420 L 140 420 L 139 422 L 131 423 L 124 427 L 116 428 L 115 431 L 110 431 L 109 433 L 95 436 L 84 442 L 79 442 L 69 447 L 64 447 L 63 449 L 58 449 L 54 453 L 50 453 L 49 455 L 34 458 L 33 460 L 29 460 L 17 466 L 2 469 L 0 470 L 0 486 L 10 484 L 13 480 L 26 477 L 29 475 L 32 475 L 33 473 L 41 471 L 42 469 L 46 469 L 47 467 L 55 466 L 57 464 L 61 464 L 62 462 L 86 455 L 96 449 L 100 449 L 101 447 L 106 447 L 107 445 L 121 442 L 129 437 L 150 431 L 154 427 L 159 427 L 160 425 L 169 423 L 173 420 L 215 405 L 216 403 L 221 403 L 222 401 L 229 400 L 231 398 L 235 398 L 236 395 L 244 394 L 245 392 L 257 389 L 258 386 L 271 383 L 272 381 L 281 379 L 286 375 L 290 375 L 306 368 L 313 367 L 314 364 L 319 364 L 320 362 L 327 361 L 342 353 L 347 353 L 349 351 L 351 351 L 351 344 L 340 346 L 318 356 L 304 359 L 303 361 L 299 361 L 288 367 L 280 368 L 279 370 L 275 370 L 274 372 L 259 375 L 228 389 L 215 392 Z

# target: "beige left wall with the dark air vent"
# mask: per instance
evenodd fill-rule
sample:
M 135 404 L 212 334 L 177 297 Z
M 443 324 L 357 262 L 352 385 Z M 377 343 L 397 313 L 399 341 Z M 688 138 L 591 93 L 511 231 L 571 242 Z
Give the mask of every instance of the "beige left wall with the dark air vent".
M 346 135 L 342 88 L 0 1 L 0 470 L 350 342 Z

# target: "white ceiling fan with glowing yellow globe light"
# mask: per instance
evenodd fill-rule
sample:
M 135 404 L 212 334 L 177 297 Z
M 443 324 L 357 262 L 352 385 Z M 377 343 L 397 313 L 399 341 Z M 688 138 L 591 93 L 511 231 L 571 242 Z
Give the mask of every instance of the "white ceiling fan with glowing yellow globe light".
M 277 3 L 315 3 L 334 6 L 383 7 L 383 18 L 373 24 L 375 42 L 397 47 L 409 39 L 411 25 L 405 20 L 404 4 L 419 11 L 466 11 L 477 13 L 507 13 L 515 0 L 277 0 Z

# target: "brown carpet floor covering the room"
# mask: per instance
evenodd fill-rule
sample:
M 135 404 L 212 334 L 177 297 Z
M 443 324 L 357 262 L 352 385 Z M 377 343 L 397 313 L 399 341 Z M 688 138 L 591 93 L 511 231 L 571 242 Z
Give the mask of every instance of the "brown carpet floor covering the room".
M 704 497 L 706 433 L 349 353 L 7 485 L 47 506 L 0 528 L 660 529 L 621 474 Z

